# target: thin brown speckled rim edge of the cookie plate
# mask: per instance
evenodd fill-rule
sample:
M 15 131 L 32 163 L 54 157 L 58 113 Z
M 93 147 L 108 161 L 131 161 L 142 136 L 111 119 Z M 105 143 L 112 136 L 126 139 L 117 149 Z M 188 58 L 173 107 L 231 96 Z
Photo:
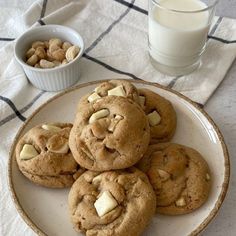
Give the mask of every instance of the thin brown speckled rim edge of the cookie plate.
M 30 219 L 30 217 L 27 215 L 27 213 L 24 211 L 24 208 L 21 206 L 21 203 L 17 197 L 17 194 L 15 192 L 14 189 L 14 184 L 13 184 L 13 180 L 12 180 L 12 163 L 13 160 L 15 159 L 15 146 L 17 144 L 17 140 L 19 139 L 22 130 L 28 125 L 28 123 L 30 122 L 30 120 L 37 114 L 40 112 L 41 109 L 43 109 L 43 107 L 45 107 L 47 104 L 51 103 L 52 101 L 56 100 L 57 98 L 64 96 L 67 93 L 73 92 L 75 90 L 78 89 L 82 89 L 83 87 L 86 86 L 90 86 L 93 84 L 99 84 L 105 81 L 109 81 L 112 79 L 124 79 L 124 78 L 111 78 L 111 79 L 105 79 L 105 80 L 95 80 L 95 81 L 90 81 L 87 83 L 82 83 L 79 84 L 77 86 L 71 87 L 69 89 L 66 89 L 62 92 L 60 92 L 59 94 L 56 94 L 55 96 L 51 97 L 50 99 L 48 99 L 47 101 L 45 101 L 44 103 L 42 103 L 36 110 L 33 111 L 33 113 L 26 119 L 26 121 L 20 126 L 19 130 L 17 131 L 16 136 L 13 139 L 13 143 L 11 145 L 10 151 L 9 151 L 9 159 L 8 159 L 8 188 L 10 191 L 10 195 L 11 195 L 11 199 L 14 203 L 14 206 L 16 207 L 17 212 L 20 214 L 21 218 L 25 221 L 25 223 L 38 235 L 40 236 L 48 236 L 42 229 L 40 229 L 36 223 L 33 222 L 32 219 Z M 207 120 L 208 122 L 213 126 L 219 141 L 220 141 L 220 145 L 221 148 L 223 150 L 223 156 L 224 156 L 224 167 L 225 167 L 225 171 L 224 171 L 224 181 L 222 183 L 222 188 L 221 188 L 221 192 L 217 198 L 217 201 L 213 207 L 213 209 L 211 210 L 211 212 L 208 214 L 208 216 L 204 219 L 204 221 L 198 225 L 198 227 L 196 229 L 194 229 L 189 235 L 194 236 L 194 235 L 198 235 L 200 232 L 202 232 L 207 225 L 209 225 L 209 223 L 215 218 L 216 214 L 218 213 L 228 190 L 229 187 L 229 181 L 230 181 L 230 158 L 229 158 L 229 152 L 228 152 L 228 148 L 227 145 L 225 143 L 224 137 L 220 131 L 220 129 L 218 128 L 218 126 L 216 125 L 216 123 L 213 121 L 213 119 L 210 117 L 210 115 L 208 115 L 208 113 L 199 106 L 198 103 L 194 102 L 193 100 L 191 100 L 190 98 L 186 97 L 185 95 L 181 94 L 180 92 L 177 92 L 171 88 L 165 87 L 163 85 L 160 85 L 158 83 L 153 83 L 153 82 L 147 82 L 147 81 L 143 81 L 143 80 L 134 80 L 134 79 L 129 79 L 130 82 L 132 83 L 138 83 L 138 84 L 146 84 L 146 85 L 151 85 L 154 87 L 157 87 L 159 89 L 163 89 L 167 92 L 173 93 L 175 95 L 177 95 L 178 97 L 182 98 L 183 100 L 185 100 L 186 102 L 190 103 L 191 105 L 193 105 Z

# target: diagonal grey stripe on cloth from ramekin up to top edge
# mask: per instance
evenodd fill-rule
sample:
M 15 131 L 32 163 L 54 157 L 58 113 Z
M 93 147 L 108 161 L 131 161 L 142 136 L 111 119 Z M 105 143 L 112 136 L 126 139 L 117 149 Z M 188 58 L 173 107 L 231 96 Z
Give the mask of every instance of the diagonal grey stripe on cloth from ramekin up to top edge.
M 132 2 L 128 4 L 128 8 L 125 10 L 125 12 L 122 13 L 122 14 L 119 16 L 119 18 L 118 18 L 117 20 L 113 21 L 112 24 L 109 25 L 108 28 L 107 28 L 104 32 L 102 32 L 102 33 L 98 36 L 98 38 L 95 39 L 95 41 L 94 41 L 87 49 L 85 49 L 84 53 L 88 53 L 88 52 L 90 52 L 94 47 L 96 47 L 96 45 L 103 39 L 103 37 L 104 37 L 105 35 L 107 35 L 107 34 L 112 30 L 112 28 L 113 28 L 115 25 L 117 25 L 117 24 L 129 13 L 129 11 L 131 10 L 131 7 L 133 6 L 134 2 L 135 2 L 135 0 L 132 0 Z

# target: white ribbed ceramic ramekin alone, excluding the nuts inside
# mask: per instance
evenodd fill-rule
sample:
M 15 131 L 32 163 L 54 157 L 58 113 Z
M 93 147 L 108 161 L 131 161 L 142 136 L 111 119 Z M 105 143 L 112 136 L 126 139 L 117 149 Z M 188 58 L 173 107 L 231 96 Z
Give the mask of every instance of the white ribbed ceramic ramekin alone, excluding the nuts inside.
M 68 64 L 50 69 L 35 68 L 25 62 L 25 54 L 34 41 L 60 38 L 80 47 L 77 57 Z M 82 37 L 75 30 L 61 25 L 44 25 L 32 28 L 22 34 L 15 44 L 15 57 L 24 69 L 29 81 L 45 91 L 59 91 L 75 84 L 80 76 L 79 60 L 84 51 Z

